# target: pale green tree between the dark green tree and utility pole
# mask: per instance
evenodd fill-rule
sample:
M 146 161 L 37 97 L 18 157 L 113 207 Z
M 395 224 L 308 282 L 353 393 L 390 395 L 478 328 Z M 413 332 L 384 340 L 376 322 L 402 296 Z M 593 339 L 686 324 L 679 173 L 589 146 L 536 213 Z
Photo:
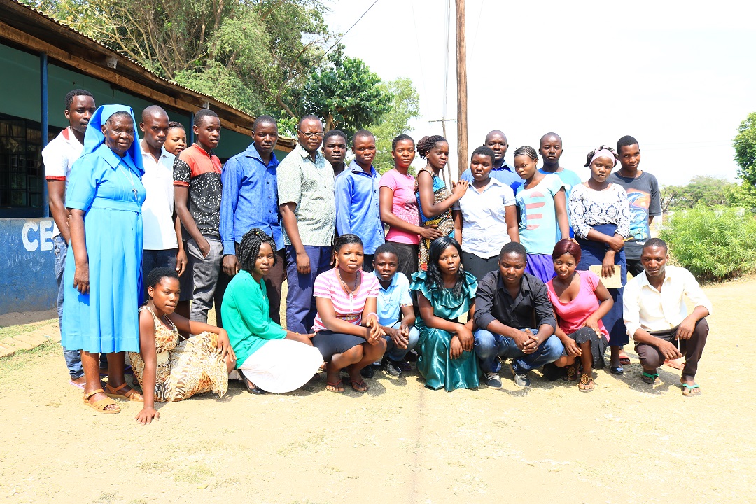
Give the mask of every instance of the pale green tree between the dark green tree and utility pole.
M 386 82 L 383 88 L 391 96 L 389 112 L 380 122 L 368 128 L 376 135 L 376 159 L 373 166 L 381 173 L 394 167 L 391 156 L 393 139 L 401 133 L 406 133 L 411 119 L 420 116 L 420 95 L 415 91 L 411 79 L 399 78 Z

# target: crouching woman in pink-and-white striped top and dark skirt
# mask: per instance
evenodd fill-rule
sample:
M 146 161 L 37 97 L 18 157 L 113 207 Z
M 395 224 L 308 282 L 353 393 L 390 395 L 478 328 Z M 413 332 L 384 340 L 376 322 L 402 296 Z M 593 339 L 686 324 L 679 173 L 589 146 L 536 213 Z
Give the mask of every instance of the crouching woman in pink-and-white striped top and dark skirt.
M 318 315 L 312 330 L 312 345 L 327 362 L 327 390 L 343 392 L 339 378 L 349 373 L 349 384 L 367 391 L 360 370 L 380 360 L 386 351 L 384 332 L 378 323 L 378 277 L 362 271 L 364 252 L 356 234 L 336 239 L 336 267 L 318 275 L 313 292 Z

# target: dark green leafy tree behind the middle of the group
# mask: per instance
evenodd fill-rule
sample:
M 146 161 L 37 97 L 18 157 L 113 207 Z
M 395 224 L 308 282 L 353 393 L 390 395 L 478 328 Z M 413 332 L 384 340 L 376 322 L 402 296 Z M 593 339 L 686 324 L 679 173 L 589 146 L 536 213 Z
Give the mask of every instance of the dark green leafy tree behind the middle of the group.
M 302 113 L 325 120 L 325 130 L 340 129 L 351 138 L 360 128 L 380 121 L 391 95 L 363 60 L 345 57 L 342 48 L 328 55 L 330 64 L 315 69 L 302 91 Z

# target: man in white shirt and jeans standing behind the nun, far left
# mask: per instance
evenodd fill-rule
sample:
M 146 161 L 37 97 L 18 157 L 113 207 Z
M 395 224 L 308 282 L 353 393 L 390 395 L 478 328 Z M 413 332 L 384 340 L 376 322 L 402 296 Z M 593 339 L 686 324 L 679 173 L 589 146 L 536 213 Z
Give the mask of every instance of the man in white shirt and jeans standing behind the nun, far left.
M 45 179 L 48 184 L 50 215 L 55 221 L 58 233 L 53 237 L 55 252 L 55 280 L 57 280 L 57 320 L 63 326 L 63 271 L 66 264 L 68 243 L 71 233 L 68 229 L 68 210 L 66 209 L 66 186 L 68 175 L 76 159 L 84 150 L 84 133 L 92 114 L 95 113 L 95 98 L 89 91 L 74 89 L 66 95 L 65 115 L 68 127 L 60 131 L 42 150 L 42 162 L 45 165 Z M 63 351 L 71 376 L 71 385 L 84 388 L 84 370 L 78 350 Z

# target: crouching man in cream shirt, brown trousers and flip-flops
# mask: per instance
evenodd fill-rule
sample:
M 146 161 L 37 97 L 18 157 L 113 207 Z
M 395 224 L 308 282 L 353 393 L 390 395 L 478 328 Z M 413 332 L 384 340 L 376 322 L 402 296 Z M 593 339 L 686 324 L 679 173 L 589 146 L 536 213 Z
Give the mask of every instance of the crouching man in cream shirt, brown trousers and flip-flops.
M 706 345 L 711 301 L 696 278 L 684 267 L 668 266 L 667 243 L 658 238 L 646 241 L 640 255 L 643 273 L 624 286 L 624 323 L 635 340 L 635 351 L 643 366 L 643 382 L 658 384 L 657 369 L 665 359 L 685 356 L 680 384 L 683 396 L 701 394 L 696 384 L 699 359 Z M 684 295 L 693 308 L 688 314 Z

